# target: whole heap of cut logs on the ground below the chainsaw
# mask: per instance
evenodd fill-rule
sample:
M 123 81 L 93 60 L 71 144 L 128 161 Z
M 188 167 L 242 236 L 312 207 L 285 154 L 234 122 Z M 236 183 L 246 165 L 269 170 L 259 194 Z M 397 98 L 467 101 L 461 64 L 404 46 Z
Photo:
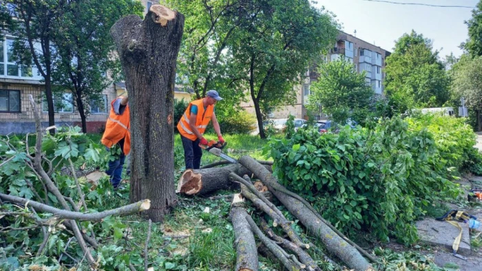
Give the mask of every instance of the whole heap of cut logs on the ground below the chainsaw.
M 343 261 L 352 270 L 375 270 L 373 263 L 377 259 L 350 241 L 328 221 L 323 219 L 313 207 L 299 195 L 288 191 L 279 184 L 271 173 L 269 163 L 262 164 L 249 156 L 238 160 L 238 164 L 230 164 L 221 168 L 188 170 L 180 177 L 178 191 L 187 195 L 207 195 L 227 188 L 238 188 L 240 194 L 233 195 L 230 218 L 235 233 L 235 246 L 238 253 L 236 271 L 258 270 L 258 250 L 279 260 L 287 270 L 321 270 L 306 250 L 315 248 L 313 243 L 304 243 L 291 227 L 292 221 L 284 217 L 280 210 L 266 199 L 252 183 L 248 175 L 255 175 L 260 182 L 274 195 L 297 219 L 326 246 L 326 249 Z M 244 177 L 240 177 L 244 176 Z M 276 235 L 264 219 L 260 219 L 260 227 L 255 224 L 251 215 L 244 208 L 244 199 L 253 202 L 273 219 L 273 227 L 280 226 L 289 239 Z M 261 241 L 256 246 L 255 238 Z M 287 251 L 292 252 L 289 254 Z M 337 268 L 342 267 L 324 255 Z

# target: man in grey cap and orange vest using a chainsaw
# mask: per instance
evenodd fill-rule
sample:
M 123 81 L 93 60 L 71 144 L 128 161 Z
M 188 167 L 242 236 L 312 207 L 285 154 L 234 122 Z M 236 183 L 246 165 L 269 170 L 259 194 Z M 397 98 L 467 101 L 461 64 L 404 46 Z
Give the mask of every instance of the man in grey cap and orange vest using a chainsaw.
M 206 97 L 194 100 L 187 106 L 186 111 L 178 123 L 178 131 L 184 147 L 184 160 L 186 169 L 199 169 L 201 164 L 202 149 L 199 144 L 207 145 L 206 138 L 202 136 L 205 133 L 209 121 L 213 121 L 214 131 L 218 134 L 218 140 L 224 143 L 222 138 L 218 120 L 214 113 L 214 106 L 218 100 L 222 100 L 218 91 L 207 91 Z

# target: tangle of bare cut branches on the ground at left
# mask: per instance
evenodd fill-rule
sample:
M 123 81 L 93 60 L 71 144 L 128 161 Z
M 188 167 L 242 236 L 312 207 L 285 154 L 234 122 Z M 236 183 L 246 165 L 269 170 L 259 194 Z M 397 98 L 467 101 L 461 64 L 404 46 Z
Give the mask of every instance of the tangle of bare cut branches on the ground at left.
M 32 230 L 34 228 L 41 228 L 41 232 L 43 235 L 43 242 L 41 246 L 39 246 L 38 250 L 36 251 L 36 256 L 39 257 L 43 254 L 43 250 L 48 243 L 49 237 L 51 232 L 55 232 L 55 230 L 65 230 L 69 232 L 72 237 L 74 237 L 80 246 L 83 252 L 82 259 L 75 259 L 72 255 L 66 252 L 67 248 L 63 249 L 62 254 L 65 254 L 67 257 L 72 259 L 72 261 L 76 263 L 81 263 L 82 261 L 87 261 L 87 263 L 92 267 L 96 268 L 98 265 L 96 259 L 92 257 L 94 250 L 99 246 L 96 236 L 94 235 L 94 231 L 87 230 L 81 226 L 81 221 L 101 221 L 101 219 L 109 216 L 109 215 L 129 215 L 133 213 L 142 212 L 144 210 L 148 210 L 151 206 L 149 199 L 144 199 L 134 204 L 129 204 L 127 206 L 122 206 L 119 208 L 115 208 L 112 210 L 105 210 L 100 213 L 88 213 L 89 210 L 87 208 L 87 204 L 85 204 L 85 197 L 83 191 L 81 190 L 81 185 L 76 177 L 76 171 L 74 170 L 74 164 L 72 160 L 67 159 L 70 164 L 70 171 L 72 173 L 72 177 L 74 177 L 74 181 L 76 184 L 76 189 L 78 195 L 80 195 L 80 202 L 76 203 L 71 197 L 66 197 L 61 193 L 61 190 L 56 185 L 56 182 L 52 175 L 56 170 L 56 166 L 54 166 L 54 162 L 52 160 L 48 160 L 45 155 L 43 155 L 41 151 L 42 145 L 42 138 L 44 130 L 41 127 L 41 118 L 39 115 L 39 111 L 36 108 L 36 103 L 34 102 L 32 95 L 30 95 L 30 104 L 32 105 L 32 110 L 34 112 L 35 123 L 36 123 L 36 144 L 34 147 L 34 153 L 29 152 L 28 147 L 28 137 L 25 140 L 26 142 L 26 155 L 25 155 L 25 163 L 30 167 L 32 172 L 36 175 L 37 180 L 41 182 L 43 186 L 43 192 L 45 193 L 45 198 L 42 198 L 39 193 L 35 191 L 33 188 L 33 184 L 26 180 L 28 186 L 34 193 L 34 198 L 36 200 L 25 199 L 23 197 L 17 197 L 14 195 L 7 195 L 4 193 L 0 193 L 0 204 L 14 204 L 21 207 L 22 210 L 30 210 L 31 212 L 19 211 L 19 212 L 12 212 L 12 211 L 3 211 L 0 209 L 0 218 L 6 216 L 12 217 L 23 217 L 24 219 L 32 219 L 34 221 L 34 226 L 28 226 L 24 228 L 15 228 L 14 226 L 6 226 L 1 227 L 1 232 L 6 232 L 10 230 Z M 12 158 L 2 162 L 0 166 L 3 166 L 10 162 L 10 160 L 14 159 L 15 156 Z M 44 169 L 46 167 L 47 169 Z M 52 201 L 48 199 L 48 194 L 51 193 L 54 195 L 56 202 L 58 202 L 59 206 L 54 206 Z M 79 206 L 83 207 L 83 212 L 79 210 Z M 87 212 L 87 213 L 85 213 Z M 47 215 L 48 219 L 42 218 L 43 214 L 50 214 Z M 73 238 L 70 238 L 72 241 Z M 69 246 L 69 242 L 67 242 L 66 246 Z M 59 258 L 60 259 L 60 258 Z M 131 265 L 131 270 L 135 270 L 135 268 Z

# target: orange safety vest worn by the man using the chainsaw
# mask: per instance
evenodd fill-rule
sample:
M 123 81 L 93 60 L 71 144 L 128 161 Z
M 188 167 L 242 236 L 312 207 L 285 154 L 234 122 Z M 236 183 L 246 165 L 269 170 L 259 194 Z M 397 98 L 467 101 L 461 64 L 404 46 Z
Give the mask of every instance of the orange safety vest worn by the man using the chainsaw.
M 205 133 L 207 124 L 211 120 L 211 116 L 213 116 L 214 112 L 214 105 L 208 105 L 205 109 L 204 105 L 202 104 L 202 99 L 195 100 L 193 102 L 189 102 L 189 105 L 182 114 L 181 119 L 178 123 L 178 131 L 179 133 L 184 136 L 185 138 L 189 138 L 190 140 L 196 140 L 198 137 L 195 133 L 191 130 L 189 126 L 189 117 L 191 116 L 191 105 L 198 106 L 198 115 L 196 116 L 196 127 L 198 128 L 199 133 L 201 135 Z

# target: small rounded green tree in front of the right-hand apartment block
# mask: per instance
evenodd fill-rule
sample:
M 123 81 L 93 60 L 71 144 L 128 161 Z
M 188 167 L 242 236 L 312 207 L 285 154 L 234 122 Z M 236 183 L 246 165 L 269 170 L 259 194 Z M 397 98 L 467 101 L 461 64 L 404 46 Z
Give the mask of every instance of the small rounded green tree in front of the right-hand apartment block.
M 322 105 L 335 122 L 344 123 L 348 118 L 363 122 L 375 96 L 365 83 L 365 74 L 358 74 L 345 59 L 322 64 L 318 73 L 318 80 L 311 85 L 309 105 Z

